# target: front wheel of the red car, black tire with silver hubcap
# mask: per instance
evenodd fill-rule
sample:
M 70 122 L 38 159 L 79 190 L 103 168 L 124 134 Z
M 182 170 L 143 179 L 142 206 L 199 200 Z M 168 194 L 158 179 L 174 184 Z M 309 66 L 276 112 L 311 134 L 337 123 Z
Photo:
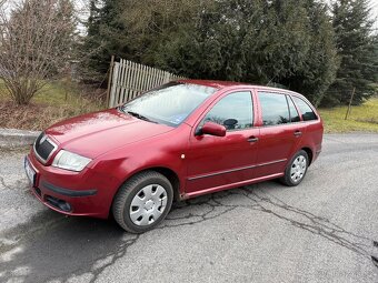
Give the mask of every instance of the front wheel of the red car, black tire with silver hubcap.
M 113 218 L 126 231 L 143 233 L 167 216 L 172 200 L 173 189 L 169 180 L 156 171 L 146 171 L 120 186 L 112 204 Z

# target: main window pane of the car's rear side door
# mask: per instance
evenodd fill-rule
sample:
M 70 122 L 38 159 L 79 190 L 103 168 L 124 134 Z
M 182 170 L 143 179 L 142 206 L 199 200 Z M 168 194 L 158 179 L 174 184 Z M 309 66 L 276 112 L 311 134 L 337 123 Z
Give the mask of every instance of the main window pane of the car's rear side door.
M 263 125 L 285 124 L 290 121 L 289 108 L 284 94 L 259 92 Z

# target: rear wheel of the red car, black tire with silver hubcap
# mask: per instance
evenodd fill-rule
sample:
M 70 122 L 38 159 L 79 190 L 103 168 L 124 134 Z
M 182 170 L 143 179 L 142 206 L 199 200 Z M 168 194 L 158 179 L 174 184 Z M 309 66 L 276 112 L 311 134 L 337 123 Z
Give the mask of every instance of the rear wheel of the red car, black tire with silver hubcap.
M 309 165 L 308 154 L 306 151 L 298 151 L 285 170 L 285 175 L 280 178 L 280 182 L 288 186 L 300 184 L 304 180 Z

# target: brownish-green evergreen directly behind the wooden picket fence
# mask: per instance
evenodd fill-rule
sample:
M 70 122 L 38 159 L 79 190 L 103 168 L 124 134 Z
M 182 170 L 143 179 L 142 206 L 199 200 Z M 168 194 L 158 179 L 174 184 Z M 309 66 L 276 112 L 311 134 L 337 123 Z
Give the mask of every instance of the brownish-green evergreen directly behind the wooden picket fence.
M 198 7 L 198 0 L 91 0 L 81 48 L 84 77 L 102 80 L 111 55 L 159 67 L 157 50 L 192 21 Z

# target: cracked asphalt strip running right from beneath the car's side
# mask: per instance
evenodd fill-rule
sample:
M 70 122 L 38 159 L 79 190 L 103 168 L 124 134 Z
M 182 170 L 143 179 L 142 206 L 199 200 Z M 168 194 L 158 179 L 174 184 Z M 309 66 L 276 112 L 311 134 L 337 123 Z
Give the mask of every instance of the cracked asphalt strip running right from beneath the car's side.
M 227 201 L 227 198 L 230 195 L 242 195 L 243 198 L 247 198 L 249 202 L 247 204 L 230 204 Z M 187 209 L 188 212 L 183 213 L 183 215 L 175 216 L 178 211 L 183 209 Z M 200 202 L 195 199 L 178 204 L 173 208 L 172 213 L 168 215 L 160 229 L 193 225 L 219 218 L 236 209 L 248 209 L 268 213 L 295 228 L 321 236 L 327 241 L 348 249 L 359 255 L 368 256 L 369 259 L 374 253 L 372 247 L 378 247 L 378 242 L 372 239 L 347 231 L 326 218 L 295 208 L 276 196 L 263 193 L 259 190 L 259 184 L 215 193 L 209 195 L 207 200 Z

